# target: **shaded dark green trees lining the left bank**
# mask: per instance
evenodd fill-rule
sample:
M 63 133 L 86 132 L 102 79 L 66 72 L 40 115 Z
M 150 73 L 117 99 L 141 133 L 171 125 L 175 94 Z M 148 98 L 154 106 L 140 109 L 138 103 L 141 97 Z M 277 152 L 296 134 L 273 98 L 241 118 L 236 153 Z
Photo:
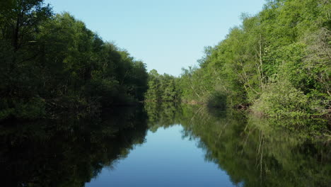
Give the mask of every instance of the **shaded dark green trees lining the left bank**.
M 146 66 L 42 0 L 0 6 L 0 120 L 144 99 Z

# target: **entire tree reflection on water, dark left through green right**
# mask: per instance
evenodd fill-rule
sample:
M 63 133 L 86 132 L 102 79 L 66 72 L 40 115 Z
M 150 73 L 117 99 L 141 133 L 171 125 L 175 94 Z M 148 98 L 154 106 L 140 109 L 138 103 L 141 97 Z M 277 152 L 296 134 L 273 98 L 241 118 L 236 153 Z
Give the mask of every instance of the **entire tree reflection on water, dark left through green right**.
M 143 144 L 148 130 L 176 124 L 234 186 L 331 183 L 330 142 L 319 138 L 327 127 L 323 120 L 271 121 L 178 103 L 143 107 L 117 108 L 98 118 L 0 125 L 1 186 L 84 186 Z

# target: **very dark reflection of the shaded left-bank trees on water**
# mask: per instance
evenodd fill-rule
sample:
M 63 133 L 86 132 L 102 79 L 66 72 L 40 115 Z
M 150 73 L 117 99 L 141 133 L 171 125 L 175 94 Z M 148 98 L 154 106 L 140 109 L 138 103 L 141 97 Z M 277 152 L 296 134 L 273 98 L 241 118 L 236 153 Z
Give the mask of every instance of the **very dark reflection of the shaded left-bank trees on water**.
M 84 186 L 144 142 L 140 108 L 0 126 L 1 186 Z

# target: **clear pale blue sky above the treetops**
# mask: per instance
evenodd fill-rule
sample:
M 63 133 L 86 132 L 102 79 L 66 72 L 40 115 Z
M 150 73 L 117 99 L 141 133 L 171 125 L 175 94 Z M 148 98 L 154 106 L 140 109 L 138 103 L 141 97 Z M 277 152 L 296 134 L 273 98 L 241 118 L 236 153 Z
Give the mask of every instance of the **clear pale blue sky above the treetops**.
M 197 64 L 204 46 L 216 45 L 255 14 L 265 0 L 46 0 L 55 13 L 68 11 L 103 40 L 129 51 L 147 69 L 180 75 Z

